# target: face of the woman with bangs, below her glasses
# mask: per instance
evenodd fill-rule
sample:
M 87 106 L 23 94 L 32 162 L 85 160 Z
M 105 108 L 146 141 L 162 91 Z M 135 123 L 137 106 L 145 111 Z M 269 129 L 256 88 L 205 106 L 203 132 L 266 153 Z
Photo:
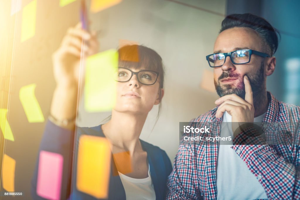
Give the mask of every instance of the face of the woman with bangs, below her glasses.
M 131 71 L 137 72 L 140 70 Z M 122 75 L 122 74 L 121 74 Z M 144 85 L 137 80 L 134 74 L 127 82 L 117 83 L 117 98 L 115 111 L 136 114 L 148 114 L 153 105 L 160 103 L 164 89 L 159 88 L 159 76 L 155 84 Z

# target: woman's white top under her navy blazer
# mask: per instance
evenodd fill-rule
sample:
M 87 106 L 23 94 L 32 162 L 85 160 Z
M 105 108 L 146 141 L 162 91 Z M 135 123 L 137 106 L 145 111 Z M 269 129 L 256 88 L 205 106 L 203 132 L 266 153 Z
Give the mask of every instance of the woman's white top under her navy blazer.
M 150 165 L 147 178 L 131 178 L 119 172 L 127 200 L 156 199 L 155 190 L 150 176 Z

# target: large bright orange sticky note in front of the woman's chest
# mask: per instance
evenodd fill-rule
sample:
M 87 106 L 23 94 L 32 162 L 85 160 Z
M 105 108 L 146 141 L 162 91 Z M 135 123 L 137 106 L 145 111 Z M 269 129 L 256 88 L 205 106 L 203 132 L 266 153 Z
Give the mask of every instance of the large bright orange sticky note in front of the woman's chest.
M 107 198 L 110 162 L 110 144 L 106 138 L 81 135 L 77 159 L 77 189 L 95 198 Z

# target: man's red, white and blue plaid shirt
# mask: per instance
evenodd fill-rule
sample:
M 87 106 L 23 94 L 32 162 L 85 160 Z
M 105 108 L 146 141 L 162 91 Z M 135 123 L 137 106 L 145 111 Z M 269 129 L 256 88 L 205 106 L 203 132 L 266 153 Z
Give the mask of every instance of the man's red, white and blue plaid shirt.
M 268 100 L 263 122 L 299 122 L 300 107 L 279 102 L 269 92 Z M 215 117 L 216 111 L 217 107 L 191 122 L 222 122 Z M 231 148 L 258 179 L 268 199 L 300 199 L 300 145 L 237 145 L 237 140 L 247 138 L 238 135 Z M 167 199 L 217 199 L 217 154 L 216 144 L 179 145 L 167 182 Z

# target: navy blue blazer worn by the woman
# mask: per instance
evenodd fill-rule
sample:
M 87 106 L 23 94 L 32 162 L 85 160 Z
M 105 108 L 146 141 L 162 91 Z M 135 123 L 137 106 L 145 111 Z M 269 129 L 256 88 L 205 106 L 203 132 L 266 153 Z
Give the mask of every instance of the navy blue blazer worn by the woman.
M 78 139 L 80 135 L 95 135 L 99 137 L 105 137 L 101 125 L 95 127 L 77 127 L 76 134 L 76 148 L 73 148 L 74 132 L 68 129 L 56 126 L 54 123 L 48 120 L 46 129 L 44 131 L 43 138 L 41 140 L 40 150 L 50 151 L 53 153 L 59 153 L 64 158 L 63 177 L 61 187 L 61 199 L 96 199 L 91 195 L 80 192 L 76 189 L 76 167 L 73 165 L 73 173 L 71 171 L 72 164 L 77 163 L 77 147 Z M 142 148 L 147 152 L 147 158 L 150 166 L 150 174 L 153 182 L 156 199 L 164 199 L 167 191 L 167 177 L 172 171 L 172 165 L 167 153 L 152 144 L 149 144 L 143 140 L 140 140 Z M 73 158 L 73 154 L 75 155 Z M 74 162 L 73 162 L 74 159 Z M 37 178 L 38 178 L 38 162 L 37 159 L 35 172 L 32 179 L 32 198 L 33 199 L 45 199 L 37 195 Z M 125 190 L 122 185 L 122 181 L 119 176 L 113 176 L 113 167 L 115 166 L 112 159 L 110 183 L 109 183 L 109 195 L 108 199 L 119 200 L 126 199 Z M 72 183 L 72 184 L 71 184 Z

